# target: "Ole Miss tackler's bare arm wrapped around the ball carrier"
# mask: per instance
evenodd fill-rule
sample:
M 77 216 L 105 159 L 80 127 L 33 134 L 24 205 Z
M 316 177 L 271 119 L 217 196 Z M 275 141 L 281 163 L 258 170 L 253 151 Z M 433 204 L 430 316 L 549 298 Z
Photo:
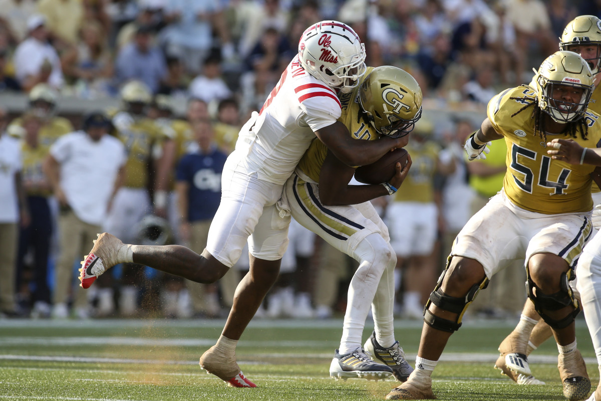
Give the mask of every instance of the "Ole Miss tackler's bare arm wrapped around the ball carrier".
M 364 166 L 377 161 L 386 152 L 407 145 L 409 136 L 391 138 L 383 136 L 375 141 L 358 141 L 340 121 L 315 132 L 328 150 L 347 166 Z

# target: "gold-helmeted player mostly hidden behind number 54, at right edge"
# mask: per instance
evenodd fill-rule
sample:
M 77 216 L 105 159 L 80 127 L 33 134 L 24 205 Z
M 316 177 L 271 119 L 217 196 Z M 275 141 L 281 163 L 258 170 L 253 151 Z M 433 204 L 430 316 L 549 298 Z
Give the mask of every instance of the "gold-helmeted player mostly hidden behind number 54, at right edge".
M 591 67 L 595 89 L 588 103 L 588 110 L 601 114 L 601 88 L 599 88 L 601 82 L 601 74 L 599 73 L 601 72 L 601 20 L 596 16 L 582 15 L 570 21 L 561 35 L 560 49 L 578 53 Z M 534 80 L 530 84 L 533 88 L 535 87 Z M 596 183 L 593 183 L 591 192 L 593 204 L 600 204 L 601 191 Z M 523 354 L 528 357 L 533 350 L 551 337 L 551 327 L 540 319 L 530 301 L 526 301 L 520 321 L 523 322 L 522 325 L 525 325 L 525 328 L 519 332 L 514 329 L 501 342 L 499 345 L 501 355 L 499 355 L 495 367 L 518 384 L 544 384 L 532 375 L 522 375 L 517 373 L 516 370 L 512 370 L 514 364 L 510 361 L 520 363 L 516 359 L 516 354 Z M 532 328 L 532 325 L 534 325 L 534 328 Z

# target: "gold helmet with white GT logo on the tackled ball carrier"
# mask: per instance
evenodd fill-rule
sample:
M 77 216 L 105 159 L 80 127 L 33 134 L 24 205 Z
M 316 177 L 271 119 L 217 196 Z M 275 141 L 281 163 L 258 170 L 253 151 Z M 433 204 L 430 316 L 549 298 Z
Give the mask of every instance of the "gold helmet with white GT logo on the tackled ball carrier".
M 381 135 L 399 138 L 421 117 L 422 94 L 409 73 L 397 67 L 374 68 L 359 88 L 359 104 Z

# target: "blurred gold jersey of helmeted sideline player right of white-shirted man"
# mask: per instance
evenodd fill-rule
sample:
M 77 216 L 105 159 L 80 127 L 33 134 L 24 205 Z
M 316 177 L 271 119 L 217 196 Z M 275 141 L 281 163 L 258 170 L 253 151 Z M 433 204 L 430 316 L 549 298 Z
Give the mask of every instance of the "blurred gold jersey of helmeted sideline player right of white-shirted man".
M 150 118 L 132 117 L 121 111 L 113 117 L 116 136 L 123 142 L 127 152 L 126 179 L 127 188 L 147 188 L 148 164 L 151 162 L 154 145 L 169 139 L 169 135 L 160 129 Z

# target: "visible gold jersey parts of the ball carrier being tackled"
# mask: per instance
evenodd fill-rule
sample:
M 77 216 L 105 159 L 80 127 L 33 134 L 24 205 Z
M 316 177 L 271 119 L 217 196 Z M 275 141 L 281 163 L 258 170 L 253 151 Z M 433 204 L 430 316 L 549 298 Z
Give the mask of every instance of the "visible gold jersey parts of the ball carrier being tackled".
M 364 79 L 370 74 L 371 70 L 373 70 L 373 67 L 367 68 Z M 380 135 L 364 118 L 361 118 L 363 112 L 358 100 L 359 87 L 361 87 L 361 84 L 357 85 L 352 92 L 339 95 L 342 112 L 338 121 L 349 129 L 352 138 L 373 141 L 373 139 L 379 138 Z M 311 180 L 319 183 L 319 173 L 322 171 L 323 161 L 325 161 L 327 154 L 328 147 L 319 139 L 313 139 L 307 152 L 299 161 L 297 168 Z

